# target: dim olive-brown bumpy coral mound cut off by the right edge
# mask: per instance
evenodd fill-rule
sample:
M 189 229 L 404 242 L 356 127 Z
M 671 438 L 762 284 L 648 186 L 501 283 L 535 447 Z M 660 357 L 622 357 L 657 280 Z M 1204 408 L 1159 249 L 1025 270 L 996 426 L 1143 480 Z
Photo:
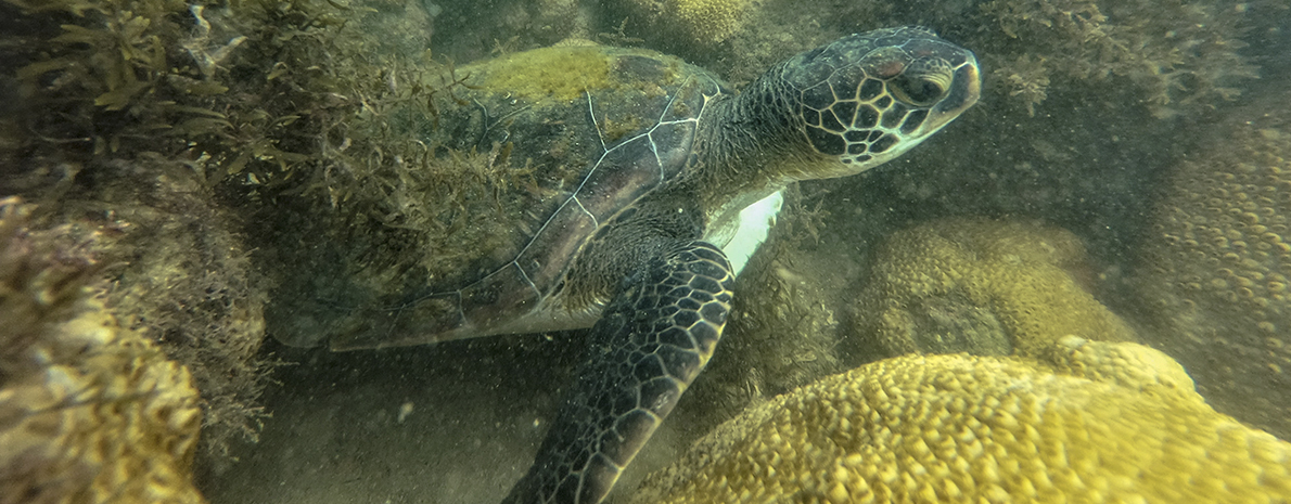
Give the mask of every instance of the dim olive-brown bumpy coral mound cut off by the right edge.
M 1269 98 L 1174 168 L 1139 286 L 1143 338 L 1216 409 L 1291 438 L 1291 94 Z

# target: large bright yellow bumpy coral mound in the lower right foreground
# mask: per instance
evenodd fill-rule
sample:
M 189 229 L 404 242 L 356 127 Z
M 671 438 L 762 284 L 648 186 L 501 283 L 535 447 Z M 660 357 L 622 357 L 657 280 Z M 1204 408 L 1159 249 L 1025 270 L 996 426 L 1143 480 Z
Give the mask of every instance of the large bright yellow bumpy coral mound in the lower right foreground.
M 1291 500 L 1291 443 L 1170 357 L 1068 336 L 1044 360 L 910 354 L 755 407 L 635 503 Z

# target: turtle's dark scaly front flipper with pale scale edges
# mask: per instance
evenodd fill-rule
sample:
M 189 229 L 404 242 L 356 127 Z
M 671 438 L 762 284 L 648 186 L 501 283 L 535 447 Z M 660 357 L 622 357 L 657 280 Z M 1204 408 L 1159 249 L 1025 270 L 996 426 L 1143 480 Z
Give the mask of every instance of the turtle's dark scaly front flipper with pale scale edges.
M 591 329 L 587 361 L 506 504 L 595 504 L 673 411 L 726 326 L 735 275 L 683 244 L 633 275 Z

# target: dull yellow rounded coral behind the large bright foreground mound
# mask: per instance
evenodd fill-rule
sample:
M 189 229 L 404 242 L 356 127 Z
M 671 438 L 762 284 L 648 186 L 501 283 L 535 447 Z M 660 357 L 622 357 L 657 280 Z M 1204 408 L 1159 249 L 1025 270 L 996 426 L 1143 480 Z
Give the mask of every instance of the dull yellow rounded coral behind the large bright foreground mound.
M 883 244 L 855 320 L 887 356 L 1034 354 L 1065 335 L 1133 340 L 1091 281 L 1084 245 L 1065 229 L 945 219 Z

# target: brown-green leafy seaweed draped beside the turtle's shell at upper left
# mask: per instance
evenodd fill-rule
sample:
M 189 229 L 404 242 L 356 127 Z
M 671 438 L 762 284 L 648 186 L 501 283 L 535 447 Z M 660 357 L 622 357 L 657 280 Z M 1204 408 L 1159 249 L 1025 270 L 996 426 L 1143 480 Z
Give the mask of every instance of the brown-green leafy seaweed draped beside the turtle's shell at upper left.
M 267 284 L 239 229 L 266 186 L 327 193 L 328 134 L 365 106 L 365 67 L 329 49 L 354 14 L 334 3 L 13 0 L 0 191 L 41 202 L 35 226 L 112 228 L 107 305 L 188 366 L 204 397 L 200 465 L 254 441 L 271 360 L 258 353 Z M 352 71 L 352 75 L 343 72 Z M 412 89 L 417 92 L 417 89 Z M 21 99 L 17 99 L 21 98 Z M 320 141 L 321 139 L 321 141 Z M 320 169 L 321 168 L 321 169 Z M 315 173 L 314 170 L 318 169 Z M 321 186 L 321 187 L 320 187 Z M 90 232 L 90 231 L 83 231 Z

